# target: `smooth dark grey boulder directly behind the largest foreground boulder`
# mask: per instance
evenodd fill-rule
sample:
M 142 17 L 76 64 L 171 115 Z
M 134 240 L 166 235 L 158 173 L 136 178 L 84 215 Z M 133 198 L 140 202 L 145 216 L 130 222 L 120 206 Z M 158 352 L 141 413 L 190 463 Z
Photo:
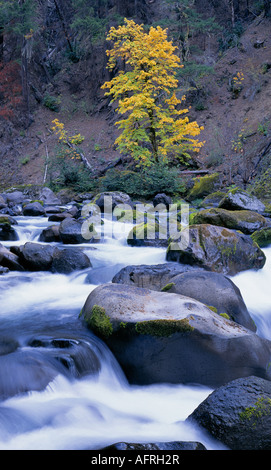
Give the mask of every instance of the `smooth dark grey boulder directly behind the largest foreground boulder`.
M 171 263 L 168 264 L 169 267 L 166 264 L 157 267 L 127 266 L 113 277 L 112 282 L 191 297 L 219 314 L 226 314 L 236 323 L 256 331 L 241 292 L 232 280 L 220 273 L 189 269 L 189 266 L 176 264 L 177 267 L 180 266 L 178 272 L 171 267 Z

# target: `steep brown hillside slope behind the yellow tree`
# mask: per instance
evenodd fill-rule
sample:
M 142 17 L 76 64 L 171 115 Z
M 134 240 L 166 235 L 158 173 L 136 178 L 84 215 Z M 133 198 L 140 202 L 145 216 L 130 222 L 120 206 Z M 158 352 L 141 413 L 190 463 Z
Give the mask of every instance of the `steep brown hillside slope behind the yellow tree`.
M 86 35 L 75 36 L 77 48 L 81 51 L 84 48 L 84 53 L 70 60 L 64 33 L 77 10 L 64 8 L 60 0 L 52 2 L 55 9 L 51 11 L 48 5 L 46 10 L 47 2 L 40 3 L 43 7 L 38 17 L 40 29 L 34 34 L 35 44 L 28 61 L 28 108 L 15 105 L 12 117 L 0 118 L 2 188 L 50 183 L 50 168 L 55 171 L 52 168 L 58 155 L 57 138 L 51 131 L 56 118 L 65 124 L 70 135 L 84 136 L 80 150 L 93 168 L 92 178 L 105 174 L 110 163 L 119 158 L 114 146 L 116 116 L 100 89 L 108 78 L 107 44 L 100 37 L 89 46 Z M 108 20 L 107 29 L 117 24 L 117 14 L 148 25 L 168 27 L 180 54 L 184 43 L 180 30 L 182 11 L 177 6 L 188 5 L 189 11 L 200 15 L 202 21 L 212 16 L 219 29 L 213 28 L 206 34 L 194 26 L 195 32 L 189 37 L 189 57 L 184 61 L 184 73 L 179 78 L 179 93 L 186 95 L 190 120 L 204 126 L 200 139 L 205 145 L 191 162 L 191 169 L 218 171 L 222 185 L 244 187 L 268 167 L 271 155 L 271 18 L 267 7 L 256 8 L 251 2 L 247 10 L 245 5 L 249 2 L 236 2 L 233 24 L 231 2 L 226 1 L 94 3 L 106 4 L 106 8 L 100 7 L 98 17 Z M 75 1 L 69 1 L 66 6 L 74 4 Z M 57 6 L 61 8 L 62 17 L 57 14 Z M 11 48 L 14 34 L 5 36 L 3 64 L 20 56 L 19 48 L 17 51 Z M 234 77 L 239 77 L 238 89 Z M 3 98 L 2 93 L 2 103 Z M 129 158 L 119 163 L 120 169 L 131 167 Z

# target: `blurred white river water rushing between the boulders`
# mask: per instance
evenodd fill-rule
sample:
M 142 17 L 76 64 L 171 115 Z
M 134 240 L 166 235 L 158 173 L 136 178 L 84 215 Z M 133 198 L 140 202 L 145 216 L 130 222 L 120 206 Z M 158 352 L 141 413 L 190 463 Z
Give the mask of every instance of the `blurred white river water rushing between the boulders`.
M 19 240 L 3 242 L 6 246 L 38 242 L 43 228 L 51 224 L 44 217 L 17 217 L 17 221 Z M 72 380 L 60 362 L 59 366 L 51 361 L 43 364 L 48 373 L 52 367 L 57 370 L 45 389 L 0 401 L 0 449 L 94 450 L 119 441 L 176 440 L 199 441 L 210 450 L 223 449 L 185 422 L 211 389 L 181 384 L 129 385 L 105 344 L 86 330 L 78 318 L 89 293 L 99 283 L 110 282 L 121 267 L 165 262 L 164 248 L 129 247 L 126 244 L 129 229 L 129 224 L 106 221 L 105 235 L 110 236 L 105 236 L 101 243 L 83 247 L 92 263 L 87 271 L 69 275 L 10 272 L 0 277 L 0 339 L 17 341 L 21 354 L 15 364 L 1 363 L 0 380 L 11 385 L 15 376 L 20 383 L 33 380 L 28 367 L 33 338 L 70 338 L 78 348 L 83 348 L 85 355 L 95 354 L 100 364 L 98 373 L 90 372 Z M 260 334 L 270 337 L 271 248 L 266 254 L 268 260 L 263 270 L 242 273 L 234 281 Z M 37 348 L 37 361 L 39 351 Z M 2 360 L 7 357 L 2 356 Z

